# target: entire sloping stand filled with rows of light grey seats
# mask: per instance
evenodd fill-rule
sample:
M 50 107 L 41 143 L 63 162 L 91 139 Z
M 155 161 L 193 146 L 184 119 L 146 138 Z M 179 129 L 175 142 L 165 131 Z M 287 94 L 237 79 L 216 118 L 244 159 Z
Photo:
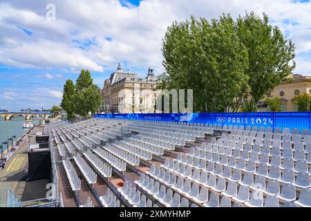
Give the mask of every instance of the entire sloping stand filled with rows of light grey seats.
M 82 178 L 100 206 L 311 206 L 307 129 L 95 118 L 44 131 L 72 190 Z

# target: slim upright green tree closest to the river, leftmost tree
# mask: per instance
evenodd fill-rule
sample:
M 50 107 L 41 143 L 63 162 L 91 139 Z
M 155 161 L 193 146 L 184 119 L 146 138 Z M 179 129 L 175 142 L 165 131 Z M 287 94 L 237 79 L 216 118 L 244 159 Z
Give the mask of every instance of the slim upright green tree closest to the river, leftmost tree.
M 75 85 L 68 79 L 64 85 L 62 108 L 67 112 L 68 119 L 73 119 L 75 113 Z

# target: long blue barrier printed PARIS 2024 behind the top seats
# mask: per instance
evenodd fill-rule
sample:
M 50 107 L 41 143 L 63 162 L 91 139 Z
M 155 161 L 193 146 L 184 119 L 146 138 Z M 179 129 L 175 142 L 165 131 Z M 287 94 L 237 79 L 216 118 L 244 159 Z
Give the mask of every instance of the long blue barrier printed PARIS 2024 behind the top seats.
M 311 130 L 310 112 L 279 113 L 150 113 L 150 114 L 98 114 L 94 117 L 110 119 L 152 120 L 160 122 L 189 122 L 204 124 L 263 126 L 272 129 L 299 128 Z

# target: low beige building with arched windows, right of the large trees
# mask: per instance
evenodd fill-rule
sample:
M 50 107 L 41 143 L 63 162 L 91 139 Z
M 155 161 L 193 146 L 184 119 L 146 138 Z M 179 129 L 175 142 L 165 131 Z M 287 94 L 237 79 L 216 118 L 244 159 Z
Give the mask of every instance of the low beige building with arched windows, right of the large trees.
M 269 107 L 265 104 L 268 97 L 281 97 L 282 111 L 297 111 L 297 106 L 292 102 L 296 95 L 308 93 L 311 95 L 311 77 L 303 75 L 290 75 L 288 79 L 276 86 L 272 93 L 268 93 L 260 102 L 260 111 L 269 111 Z

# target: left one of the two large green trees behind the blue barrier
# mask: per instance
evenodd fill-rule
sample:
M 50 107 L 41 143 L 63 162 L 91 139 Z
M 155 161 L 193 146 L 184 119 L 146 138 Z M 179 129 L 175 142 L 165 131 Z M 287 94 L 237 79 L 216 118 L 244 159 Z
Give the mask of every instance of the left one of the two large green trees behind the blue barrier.
M 169 78 L 159 85 L 167 89 L 193 89 L 194 111 L 236 110 L 236 97 L 247 90 L 247 50 L 236 35 L 230 15 L 220 19 L 174 22 L 163 39 L 163 65 Z

